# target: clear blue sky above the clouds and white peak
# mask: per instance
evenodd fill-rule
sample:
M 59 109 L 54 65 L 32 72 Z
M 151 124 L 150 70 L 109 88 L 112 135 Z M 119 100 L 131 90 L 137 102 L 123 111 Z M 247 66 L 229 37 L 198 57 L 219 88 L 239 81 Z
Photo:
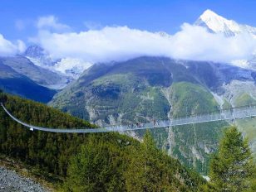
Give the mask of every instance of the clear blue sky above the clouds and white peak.
M 73 31 L 86 27 L 129 26 L 174 34 L 184 22 L 193 23 L 205 9 L 240 23 L 256 26 L 256 1 L 14 1 L 0 2 L 0 33 L 10 41 L 27 41 L 37 34 L 38 17 L 53 15 Z

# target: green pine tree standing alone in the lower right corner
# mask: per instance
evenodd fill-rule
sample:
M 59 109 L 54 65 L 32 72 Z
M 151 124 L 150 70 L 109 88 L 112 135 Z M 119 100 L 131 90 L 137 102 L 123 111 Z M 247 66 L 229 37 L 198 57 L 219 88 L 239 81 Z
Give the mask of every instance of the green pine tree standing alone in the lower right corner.
M 255 165 L 248 141 L 236 127 L 229 127 L 210 163 L 210 184 L 219 191 L 252 190 Z

